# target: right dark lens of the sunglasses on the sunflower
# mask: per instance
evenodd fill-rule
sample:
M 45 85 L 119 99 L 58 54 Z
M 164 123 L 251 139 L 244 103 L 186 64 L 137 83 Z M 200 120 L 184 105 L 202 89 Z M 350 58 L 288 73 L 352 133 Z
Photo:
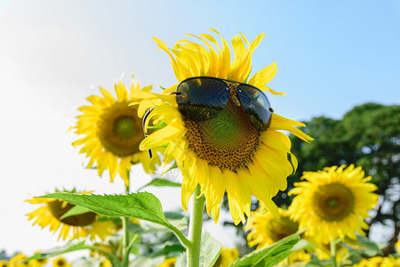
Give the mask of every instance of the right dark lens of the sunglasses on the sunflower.
M 267 131 L 271 124 L 272 113 L 267 96 L 250 85 L 238 85 L 236 91 L 252 125 L 261 132 Z

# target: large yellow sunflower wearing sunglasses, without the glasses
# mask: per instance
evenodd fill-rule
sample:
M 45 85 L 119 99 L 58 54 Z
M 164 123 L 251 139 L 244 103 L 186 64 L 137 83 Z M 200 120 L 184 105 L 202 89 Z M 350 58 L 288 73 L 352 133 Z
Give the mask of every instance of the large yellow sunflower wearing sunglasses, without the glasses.
M 276 74 L 276 63 L 261 69 L 247 81 L 252 69 L 252 52 L 263 36 L 257 36 L 252 43 L 243 35 L 233 37 L 235 56 L 232 62 L 228 43 L 223 37 L 222 47 L 208 34 L 196 36 L 204 45 L 181 40 L 169 49 L 159 39 L 156 43 L 170 55 L 179 82 L 188 77 L 217 77 L 276 93 L 266 86 Z M 214 46 L 218 47 L 218 52 Z M 141 142 L 140 150 L 166 146 L 164 166 L 175 160 L 183 175 L 183 208 L 187 210 L 190 196 L 200 185 L 207 213 L 215 222 L 219 218 L 225 190 L 236 224 L 245 223 L 244 214 L 250 215 L 252 195 L 278 214 L 271 198 L 278 190 L 286 189 L 286 177 L 297 167 L 297 159 L 290 151 L 291 142 L 279 130 L 289 131 L 309 141 L 311 138 L 307 134 L 294 127 L 304 125 L 273 113 L 268 131 L 259 132 L 243 107 L 234 103 L 232 96 L 217 117 L 204 122 L 191 121 L 180 114 L 176 97 L 169 95 L 176 87 L 172 85 L 162 94 L 141 93 L 140 116 L 147 109 L 154 108 L 148 118 L 154 118 L 155 123 L 164 122 L 166 126 Z

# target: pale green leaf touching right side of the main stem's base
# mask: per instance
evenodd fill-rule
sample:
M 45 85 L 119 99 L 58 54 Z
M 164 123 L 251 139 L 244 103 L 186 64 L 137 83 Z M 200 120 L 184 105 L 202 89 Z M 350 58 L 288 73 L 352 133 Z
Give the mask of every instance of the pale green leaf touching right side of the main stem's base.
M 199 266 L 212 266 L 217 261 L 221 248 L 222 245 L 220 244 L 220 241 L 212 238 L 212 235 L 208 232 L 204 232 L 200 244 Z

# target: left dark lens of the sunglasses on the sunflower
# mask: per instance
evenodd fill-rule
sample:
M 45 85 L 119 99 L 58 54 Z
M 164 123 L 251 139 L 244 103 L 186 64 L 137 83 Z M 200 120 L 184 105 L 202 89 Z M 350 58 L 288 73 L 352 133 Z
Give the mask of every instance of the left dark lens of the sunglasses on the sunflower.
M 191 78 L 181 82 L 176 88 L 180 113 L 196 122 L 217 117 L 228 100 L 228 85 L 214 78 Z

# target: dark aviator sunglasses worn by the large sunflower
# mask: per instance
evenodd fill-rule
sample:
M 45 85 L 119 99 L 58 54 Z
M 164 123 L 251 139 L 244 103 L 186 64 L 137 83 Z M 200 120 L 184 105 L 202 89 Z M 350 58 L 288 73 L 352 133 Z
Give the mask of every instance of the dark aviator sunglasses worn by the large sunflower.
M 231 95 L 231 89 L 236 93 Z M 190 77 L 182 81 L 173 94 L 180 113 L 195 122 L 217 117 L 230 97 L 237 106 L 243 107 L 252 125 L 260 132 L 268 130 L 274 112 L 259 88 L 217 77 Z

